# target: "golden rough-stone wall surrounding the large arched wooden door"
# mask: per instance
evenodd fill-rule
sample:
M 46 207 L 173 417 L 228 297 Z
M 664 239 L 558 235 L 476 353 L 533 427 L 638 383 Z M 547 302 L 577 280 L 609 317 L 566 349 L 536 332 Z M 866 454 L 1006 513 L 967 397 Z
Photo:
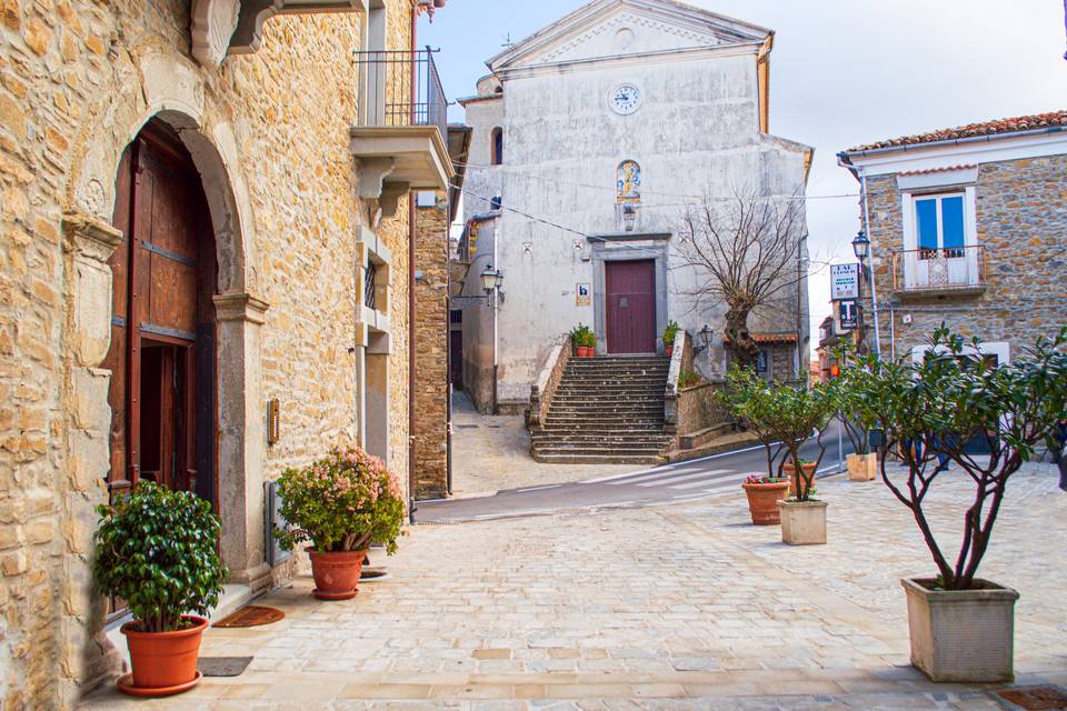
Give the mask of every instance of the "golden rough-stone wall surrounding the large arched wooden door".
M 388 6 L 389 47 L 406 48 L 409 0 Z M 188 0 L 0 3 L 3 709 L 70 707 L 114 670 L 97 634 L 102 604 L 88 573 L 92 507 L 107 498 L 110 420 L 110 372 L 97 365 L 109 339 L 106 261 L 116 243 L 107 223 L 118 158 L 152 116 L 191 147 L 212 204 L 219 291 L 229 299 L 220 341 L 237 349 L 220 350 L 220 362 L 237 364 L 220 372 L 221 417 L 243 418 L 220 430 L 220 451 L 232 454 L 220 468 L 247 477 L 247 490 L 232 492 L 245 519 L 226 525 L 260 537 L 259 549 L 246 547 L 249 570 L 263 564 L 261 480 L 356 432 L 351 236 L 369 216 L 355 198 L 347 129 L 356 119 L 360 16 L 272 19 L 259 52 L 215 70 L 190 57 L 189 8 Z M 72 214 L 66 231 L 64 213 Z M 378 232 L 393 273 L 405 276 L 390 298 L 389 387 L 391 461 L 406 480 L 405 201 Z M 231 321 L 222 322 L 223 310 Z M 282 402 L 282 428 L 268 449 L 270 398 Z

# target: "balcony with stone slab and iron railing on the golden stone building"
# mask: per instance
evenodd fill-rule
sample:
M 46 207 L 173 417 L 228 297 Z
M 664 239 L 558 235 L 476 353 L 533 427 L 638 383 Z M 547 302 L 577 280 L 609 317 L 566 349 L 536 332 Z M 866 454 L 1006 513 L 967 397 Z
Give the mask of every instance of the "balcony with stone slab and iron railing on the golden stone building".
M 359 196 L 385 216 L 409 190 L 445 190 L 455 171 L 448 156 L 448 100 L 430 48 L 357 52 L 359 120 L 349 131 L 359 166 Z

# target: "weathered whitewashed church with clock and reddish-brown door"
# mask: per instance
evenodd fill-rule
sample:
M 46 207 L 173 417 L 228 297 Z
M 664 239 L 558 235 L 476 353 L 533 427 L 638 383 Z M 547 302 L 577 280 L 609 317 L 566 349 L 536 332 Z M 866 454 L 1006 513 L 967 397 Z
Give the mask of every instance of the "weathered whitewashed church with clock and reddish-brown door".
M 463 310 L 463 382 L 480 409 L 525 408 L 579 322 L 600 354 L 661 353 L 670 320 L 714 331 L 696 365 L 724 372 L 725 307 L 695 303 L 707 277 L 677 268 L 678 226 L 702 196 L 802 196 L 811 149 L 770 133 L 772 43 L 770 30 L 672 0 L 595 0 L 487 62 L 460 99 L 473 131 L 465 219 L 478 233 L 462 293 L 481 292 L 490 264 L 502 274 L 493 298 Z M 780 301 L 749 327 L 776 377 L 796 378 L 806 282 Z

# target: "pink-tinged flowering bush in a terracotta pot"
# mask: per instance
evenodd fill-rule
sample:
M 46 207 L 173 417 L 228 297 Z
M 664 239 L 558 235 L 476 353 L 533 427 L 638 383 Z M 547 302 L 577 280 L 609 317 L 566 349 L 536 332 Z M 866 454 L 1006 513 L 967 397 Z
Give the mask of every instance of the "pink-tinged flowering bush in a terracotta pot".
M 275 531 L 293 550 L 311 541 L 312 594 L 320 600 L 355 598 L 371 542 L 397 550 L 407 507 L 400 482 L 380 459 L 352 445 L 338 445 L 302 469 L 278 479 L 286 530 Z

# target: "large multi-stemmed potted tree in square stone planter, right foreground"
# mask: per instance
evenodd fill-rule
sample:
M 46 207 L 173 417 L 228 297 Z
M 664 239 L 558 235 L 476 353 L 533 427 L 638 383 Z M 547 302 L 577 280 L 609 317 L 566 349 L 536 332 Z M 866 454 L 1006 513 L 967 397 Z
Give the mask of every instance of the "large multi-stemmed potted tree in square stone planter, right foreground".
M 1067 329 L 996 365 L 981 357 L 977 340 L 967 344 L 943 326 L 920 362 L 868 357 L 857 368 L 862 372 L 849 415 L 880 431 L 881 479 L 911 511 L 937 569 L 901 581 L 911 663 L 934 681 L 1011 681 L 1019 594 L 978 578 L 978 567 L 1008 480 L 1037 444 L 1051 440 L 1067 411 Z M 973 455 L 975 442 L 989 455 Z M 900 450 L 906 472 L 887 471 L 885 455 L 893 449 Z M 974 484 L 971 501 L 960 503 L 963 539 L 955 560 L 938 542 L 926 509 L 951 467 Z

